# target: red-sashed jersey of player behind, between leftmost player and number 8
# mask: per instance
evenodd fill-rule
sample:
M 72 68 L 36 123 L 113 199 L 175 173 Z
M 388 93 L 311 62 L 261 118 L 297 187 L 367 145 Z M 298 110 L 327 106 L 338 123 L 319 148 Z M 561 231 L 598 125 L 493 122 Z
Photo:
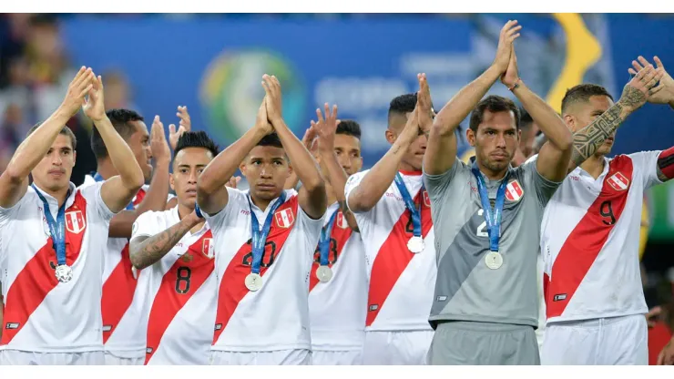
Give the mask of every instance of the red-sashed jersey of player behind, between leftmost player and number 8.
M 102 180 L 100 176 L 85 177 L 82 187 Z M 149 186 L 144 185 L 128 204 L 127 210 L 135 210 Z M 168 200 L 173 196 L 169 195 Z M 145 355 L 145 337 L 138 333 L 138 318 L 141 308 L 132 306 L 138 285 L 138 272 L 133 269 L 128 253 L 128 239 L 107 238 L 103 255 L 103 343 L 107 352 L 121 358 L 140 358 Z M 138 302 L 136 302 L 138 303 Z

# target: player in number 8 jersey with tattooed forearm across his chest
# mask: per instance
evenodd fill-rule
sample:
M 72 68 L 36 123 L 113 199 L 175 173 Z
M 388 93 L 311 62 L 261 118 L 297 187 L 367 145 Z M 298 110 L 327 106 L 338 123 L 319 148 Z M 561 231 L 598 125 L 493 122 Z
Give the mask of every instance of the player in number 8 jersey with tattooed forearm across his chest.
M 197 179 L 218 147 L 206 132 L 180 136 L 173 159 L 171 189 L 178 205 L 138 217 L 129 245 L 137 270 L 147 335 L 145 364 L 209 364 L 217 299 L 217 279 L 209 224 L 197 215 Z

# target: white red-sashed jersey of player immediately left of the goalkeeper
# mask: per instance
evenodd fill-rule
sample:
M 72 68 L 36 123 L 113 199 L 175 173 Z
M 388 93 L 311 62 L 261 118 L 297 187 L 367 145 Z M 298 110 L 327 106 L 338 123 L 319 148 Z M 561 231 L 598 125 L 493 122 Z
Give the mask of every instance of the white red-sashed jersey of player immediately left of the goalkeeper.
M 368 172 L 365 170 L 349 178 L 344 188 L 347 200 Z M 421 171 L 401 171 L 400 177 L 414 207 L 421 210 L 420 237 L 424 240 L 424 251 L 414 253 L 408 248 L 408 242 L 414 237 L 414 222 L 395 182 L 372 210 L 354 212 L 365 246 L 370 281 L 366 331 L 432 330 L 428 316 L 437 267 L 431 200 L 428 192 L 421 190 Z

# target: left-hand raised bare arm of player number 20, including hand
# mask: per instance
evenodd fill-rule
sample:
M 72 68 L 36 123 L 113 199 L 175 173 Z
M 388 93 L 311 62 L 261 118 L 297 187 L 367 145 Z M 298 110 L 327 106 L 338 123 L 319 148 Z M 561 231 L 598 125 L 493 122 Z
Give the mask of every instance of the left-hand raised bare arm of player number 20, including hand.
M 274 128 L 267 121 L 266 97 L 258 109 L 255 126 L 250 128 L 241 138 L 227 149 L 220 151 L 210 161 L 197 181 L 197 203 L 199 208 L 209 215 L 214 215 L 227 206 L 230 197 L 225 184 L 230 181 L 239 164 L 264 136 L 271 134 Z

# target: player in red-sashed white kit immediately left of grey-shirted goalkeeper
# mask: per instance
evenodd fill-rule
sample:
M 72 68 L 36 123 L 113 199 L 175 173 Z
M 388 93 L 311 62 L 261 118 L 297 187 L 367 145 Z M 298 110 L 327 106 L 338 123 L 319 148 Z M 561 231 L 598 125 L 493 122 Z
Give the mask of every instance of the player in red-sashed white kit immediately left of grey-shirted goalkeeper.
M 391 149 L 344 188 L 348 208 L 342 212 L 355 215 L 369 279 L 363 364 L 424 364 L 433 338 L 434 233 L 421 176 L 426 137 L 419 128 L 432 122 L 432 112 L 430 98 L 395 97 L 386 130 Z

